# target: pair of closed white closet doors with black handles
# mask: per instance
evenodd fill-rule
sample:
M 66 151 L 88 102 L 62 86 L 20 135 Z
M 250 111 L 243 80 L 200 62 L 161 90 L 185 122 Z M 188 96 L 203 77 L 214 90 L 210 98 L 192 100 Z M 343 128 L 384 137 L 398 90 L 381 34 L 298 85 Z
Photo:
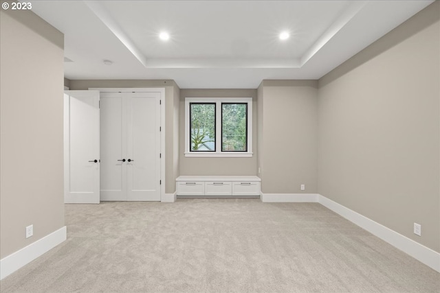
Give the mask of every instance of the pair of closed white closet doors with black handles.
M 101 200 L 160 201 L 160 93 L 101 93 Z

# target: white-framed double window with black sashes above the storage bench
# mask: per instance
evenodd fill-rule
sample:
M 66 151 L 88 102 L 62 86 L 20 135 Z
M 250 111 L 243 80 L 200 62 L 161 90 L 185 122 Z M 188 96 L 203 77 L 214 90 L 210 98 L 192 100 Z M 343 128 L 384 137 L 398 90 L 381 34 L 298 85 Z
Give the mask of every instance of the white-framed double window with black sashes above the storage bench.
M 185 156 L 252 156 L 252 98 L 185 99 Z

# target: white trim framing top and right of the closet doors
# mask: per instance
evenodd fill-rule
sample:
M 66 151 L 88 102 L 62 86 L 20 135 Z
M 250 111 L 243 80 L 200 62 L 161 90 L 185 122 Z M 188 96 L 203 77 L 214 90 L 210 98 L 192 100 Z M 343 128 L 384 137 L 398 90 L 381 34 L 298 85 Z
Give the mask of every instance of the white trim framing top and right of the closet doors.
M 160 100 L 162 101 L 160 107 L 160 127 L 162 131 L 160 132 L 160 153 L 162 154 L 162 159 L 160 160 L 160 180 L 162 180 L 162 184 L 160 185 L 160 198 L 166 198 L 165 195 L 165 88 L 89 88 L 89 90 L 100 91 L 100 93 L 151 93 L 151 92 L 159 92 Z

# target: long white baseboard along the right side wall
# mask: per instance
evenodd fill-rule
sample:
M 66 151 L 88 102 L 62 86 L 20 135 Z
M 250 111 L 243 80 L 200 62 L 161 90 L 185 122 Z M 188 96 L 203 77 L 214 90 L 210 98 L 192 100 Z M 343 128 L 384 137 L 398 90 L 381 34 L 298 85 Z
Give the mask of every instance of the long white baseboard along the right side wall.
M 350 222 L 364 228 L 366 231 L 369 231 L 371 234 L 379 237 L 385 242 L 388 242 L 395 248 L 414 257 L 421 263 L 426 264 L 426 266 L 440 272 L 440 253 L 437 253 L 436 251 L 423 246 L 390 228 L 386 228 L 386 226 L 370 220 L 364 215 L 338 204 L 338 202 L 333 202 L 333 200 L 329 200 L 329 198 L 326 198 L 325 196 L 318 195 L 318 202 L 324 207 L 327 207 L 327 209 L 338 213 L 343 218 L 346 218 Z

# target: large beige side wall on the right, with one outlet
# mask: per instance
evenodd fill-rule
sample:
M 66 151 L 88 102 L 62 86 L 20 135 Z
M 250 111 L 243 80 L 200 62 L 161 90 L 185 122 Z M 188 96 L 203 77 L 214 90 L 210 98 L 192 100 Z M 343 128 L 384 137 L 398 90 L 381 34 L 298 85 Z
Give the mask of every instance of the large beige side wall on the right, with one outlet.
M 436 1 L 319 81 L 318 152 L 320 194 L 437 252 L 439 12 Z

